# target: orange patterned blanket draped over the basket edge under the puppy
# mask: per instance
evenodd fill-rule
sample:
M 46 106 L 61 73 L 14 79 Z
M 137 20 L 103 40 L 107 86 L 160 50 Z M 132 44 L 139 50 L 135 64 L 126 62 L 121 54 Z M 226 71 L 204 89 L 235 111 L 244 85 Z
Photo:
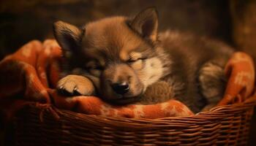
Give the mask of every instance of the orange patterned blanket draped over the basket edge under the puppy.
M 59 80 L 61 49 L 55 40 L 31 41 L 0 62 L 0 109 L 10 117 L 24 104 L 37 101 L 91 115 L 127 118 L 165 118 L 194 115 L 176 100 L 152 105 L 113 106 L 93 96 L 61 97 L 54 89 Z M 244 101 L 252 94 L 255 70 L 245 53 L 234 53 L 226 69 L 230 80 L 219 105 Z M 238 94 L 240 96 L 238 96 Z M 238 97 L 238 98 L 237 98 Z

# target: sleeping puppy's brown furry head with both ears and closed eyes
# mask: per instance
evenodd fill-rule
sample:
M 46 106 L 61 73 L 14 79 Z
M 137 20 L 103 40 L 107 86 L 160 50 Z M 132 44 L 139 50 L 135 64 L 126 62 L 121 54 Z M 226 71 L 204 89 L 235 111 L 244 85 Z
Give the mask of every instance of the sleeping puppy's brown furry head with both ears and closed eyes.
M 69 66 L 97 77 L 103 99 L 127 104 L 161 77 L 157 26 L 157 11 L 148 8 L 132 19 L 105 18 L 83 28 L 58 21 L 53 28 Z

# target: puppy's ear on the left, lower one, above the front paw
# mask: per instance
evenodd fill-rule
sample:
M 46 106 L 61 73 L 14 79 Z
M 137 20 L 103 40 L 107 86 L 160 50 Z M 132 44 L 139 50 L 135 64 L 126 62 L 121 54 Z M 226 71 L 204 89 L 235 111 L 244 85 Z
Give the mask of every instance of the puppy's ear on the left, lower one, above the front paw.
M 53 24 L 54 36 L 63 50 L 78 51 L 85 29 L 62 21 Z

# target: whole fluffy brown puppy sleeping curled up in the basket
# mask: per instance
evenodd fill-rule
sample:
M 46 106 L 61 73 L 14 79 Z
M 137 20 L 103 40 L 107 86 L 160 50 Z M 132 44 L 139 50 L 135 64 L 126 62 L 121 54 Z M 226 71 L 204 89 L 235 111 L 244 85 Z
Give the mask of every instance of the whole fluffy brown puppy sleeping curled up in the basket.
M 64 57 L 59 93 L 96 95 L 111 104 L 154 104 L 175 97 L 194 112 L 217 104 L 233 50 L 206 37 L 158 33 L 157 28 L 154 8 L 135 18 L 104 18 L 82 28 L 54 23 Z M 169 86 L 172 95 L 145 96 L 161 85 Z

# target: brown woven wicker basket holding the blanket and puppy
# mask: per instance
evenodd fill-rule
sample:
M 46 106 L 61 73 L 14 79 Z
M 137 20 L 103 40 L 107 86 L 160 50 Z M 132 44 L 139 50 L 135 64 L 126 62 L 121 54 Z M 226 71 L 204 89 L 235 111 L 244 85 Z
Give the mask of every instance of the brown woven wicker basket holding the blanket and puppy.
M 182 118 L 84 115 L 31 104 L 15 117 L 16 145 L 246 145 L 255 96 Z M 57 118 L 57 119 L 56 119 Z

